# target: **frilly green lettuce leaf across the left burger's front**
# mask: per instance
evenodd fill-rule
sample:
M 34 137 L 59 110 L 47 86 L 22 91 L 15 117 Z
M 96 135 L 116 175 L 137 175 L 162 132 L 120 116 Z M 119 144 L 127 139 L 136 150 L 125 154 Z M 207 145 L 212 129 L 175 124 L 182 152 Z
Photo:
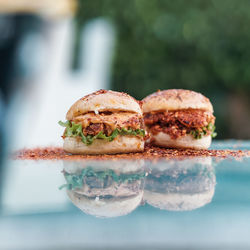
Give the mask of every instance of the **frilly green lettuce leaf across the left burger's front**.
M 143 129 L 115 129 L 110 136 L 105 135 L 102 131 L 97 135 L 84 135 L 82 132 L 82 124 L 77 124 L 74 122 L 66 121 L 58 122 L 59 125 L 65 127 L 64 136 L 66 137 L 81 137 L 82 142 L 86 145 L 91 145 L 95 139 L 104 139 L 107 141 L 113 141 L 118 135 L 134 135 L 134 136 L 145 136 L 145 131 Z

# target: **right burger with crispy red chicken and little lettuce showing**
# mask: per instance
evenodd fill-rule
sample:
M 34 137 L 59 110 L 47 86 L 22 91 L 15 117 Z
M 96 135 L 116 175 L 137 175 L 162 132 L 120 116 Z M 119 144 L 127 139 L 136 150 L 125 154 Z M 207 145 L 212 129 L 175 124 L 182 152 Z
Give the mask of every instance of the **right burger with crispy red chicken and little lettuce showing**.
M 207 149 L 216 136 L 213 106 L 200 93 L 158 91 L 143 99 L 142 109 L 150 142 L 156 146 Z

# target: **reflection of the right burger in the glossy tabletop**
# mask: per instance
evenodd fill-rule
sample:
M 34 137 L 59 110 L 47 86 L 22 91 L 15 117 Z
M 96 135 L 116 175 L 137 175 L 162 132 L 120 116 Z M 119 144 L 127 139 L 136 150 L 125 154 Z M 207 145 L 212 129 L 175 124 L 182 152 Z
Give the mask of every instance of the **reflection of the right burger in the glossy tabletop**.
M 144 200 L 169 211 L 188 211 L 210 203 L 216 185 L 211 158 L 162 161 L 151 165 Z

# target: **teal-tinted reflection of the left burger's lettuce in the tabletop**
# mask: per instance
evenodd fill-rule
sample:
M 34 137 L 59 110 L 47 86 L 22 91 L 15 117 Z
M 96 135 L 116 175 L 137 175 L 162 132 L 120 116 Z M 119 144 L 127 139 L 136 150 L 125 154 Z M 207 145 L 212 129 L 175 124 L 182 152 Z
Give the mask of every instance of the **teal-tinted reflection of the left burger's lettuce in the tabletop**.
M 143 179 L 145 177 L 145 173 L 136 173 L 136 174 L 121 174 L 118 175 L 112 169 L 108 169 L 106 171 L 96 172 L 92 167 L 87 167 L 82 169 L 79 174 L 70 174 L 65 172 L 64 177 L 66 180 L 66 184 L 63 184 L 59 187 L 59 189 L 67 188 L 68 190 L 74 190 L 76 188 L 81 188 L 84 183 L 84 178 L 86 177 L 96 177 L 100 180 L 104 180 L 107 177 L 111 177 L 113 181 L 117 183 L 131 183 L 136 180 Z

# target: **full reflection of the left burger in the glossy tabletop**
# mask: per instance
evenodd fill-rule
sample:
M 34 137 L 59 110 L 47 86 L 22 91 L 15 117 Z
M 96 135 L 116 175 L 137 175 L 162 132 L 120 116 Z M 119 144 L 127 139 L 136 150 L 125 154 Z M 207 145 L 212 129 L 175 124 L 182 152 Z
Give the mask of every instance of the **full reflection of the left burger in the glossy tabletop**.
M 145 172 L 139 162 L 65 162 L 62 188 L 86 214 L 109 218 L 131 213 L 143 198 Z

